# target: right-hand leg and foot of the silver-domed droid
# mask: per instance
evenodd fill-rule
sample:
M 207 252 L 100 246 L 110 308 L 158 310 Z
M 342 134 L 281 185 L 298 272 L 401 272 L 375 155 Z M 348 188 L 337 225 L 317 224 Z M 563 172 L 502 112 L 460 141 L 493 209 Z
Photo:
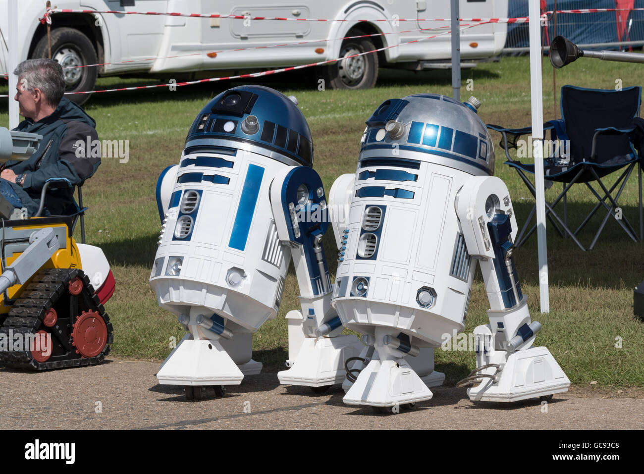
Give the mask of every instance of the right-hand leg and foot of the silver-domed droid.
M 545 347 L 532 345 L 541 325 L 531 321 L 512 257 L 516 220 L 506 185 L 477 176 L 463 185 L 457 213 L 468 252 L 478 258 L 491 309 L 475 329 L 477 368 L 457 384 L 469 398 L 518 401 L 566 392 L 568 377 Z

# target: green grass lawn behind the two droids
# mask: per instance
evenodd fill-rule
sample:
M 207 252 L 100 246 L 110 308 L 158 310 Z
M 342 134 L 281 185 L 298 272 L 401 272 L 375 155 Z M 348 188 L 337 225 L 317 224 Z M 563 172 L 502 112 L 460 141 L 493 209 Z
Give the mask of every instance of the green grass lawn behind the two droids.
M 579 61 L 557 71 L 557 87 L 564 84 L 612 89 L 639 86 L 644 69 L 638 64 Z M 359 140 L 365 120 L 385 99 L 412 93 L 451 95 L 450 71 L 422 73 L 380 71 L 376 88 L 363 91 L 318 91 L 317 80 L 305 75 L 278 75 L 255 80 L 298 97 L 314 139 L 315 168 L 325 189 L 342 173 L 354 173 Z M 260 78 L 261 79 L 261 78 Z M 471 79 L 471 81 L 469 81 Z M 103 86 L 150 84 L 149 79 L 101 79 Z M 553 69 L 544 61 L 544 119 L 553 118 Z M 86 110 L 97 121 L 99 137 L 129 140 L 129 161 L 105 158 L 97 175 L 83 189 L 90 207 L 86 217 L 88 243 L 98 245 L 108 256 L 117 291 L 106 308 L 114 323 L 112 354 L 120 357 L 161 360 L 169 354 L 171 337 L 183 330 L 175 316 L 156 304 L 147 284 L 156 251 L 160 223 L 155 202 L 156 178 L 164 167 L 178 163 L 187 129 L 200 109 L 217 93 L 240 82 L 216 82 L 169 91 L 131 91 L 94 95 Z M 473 90 L 467 90 L 468 86 Z M 462 72 L 462 100 L 475 95 L 482 101 L 479 114 L 486 123 L 528 126 L 531 123 L 528 57 L 506 57 L 500 62 L 479 64 Z M 6 93 L 0 86 L 0 93 Z M 558 106 L 557 106 L 558 109 Z M 0 126 L 7 126 L 6 99 L 0 100 Z M 533 198 L 515 171 L 504 166 L 497 142 L 495 174 L 509 187 L 519 225 Z M 617 175 L 608 178 L 609 183 Z M 637 176 L 633 173 L 620 204 L 623 216 L 638 229 Z M 560 192 L 554 185 L 546 192 L 552 200 Z M 569 194 L 571 222 L 580 222 L 594 198 L 578 186 Z M 601 214 L 601 215 L 600 215 Z M 580 234 L 588 246 L 605 213 L 598 215 Z M 611 219 L 611 221 L 614 221 Z M 539 313 L 536 236 L 515 251 L 522 289 L 528 296 L 533 319 L 543 325 L 536 343 L 547 346 L 575 384 L 596 381 L 599 386 L 644 387 L 644 323 L 632 316 L 633 288 L 644 279 L 641 243 L 632 242 L 617 222 L 609 222 L 596 248 L 582 252 L 569 239 L 560 238 L 548 223 L 550 279 L 549 314 Z M 571 227 L 573 227 L 571 225 Z M 576 226 L 573 227 L 573 229 Z M 325 251 L 332 274 L 336 252 L 332 230 L 325 236 Z M 279 315 L 263 325 L 253 337 L 254 359 L 265 370 L 281 370 L 287 358 L 286 312 L 299 308 L 298 287 L 291 268 Z M 466 332 L 488 322 L 484 284 L 477 272 L 473 284 Z M 621 348 L 616 347 L 621 341 Z M 447 384 L 475 367 L 473 352 L 436 352 L 437 370 L 446 372 Z

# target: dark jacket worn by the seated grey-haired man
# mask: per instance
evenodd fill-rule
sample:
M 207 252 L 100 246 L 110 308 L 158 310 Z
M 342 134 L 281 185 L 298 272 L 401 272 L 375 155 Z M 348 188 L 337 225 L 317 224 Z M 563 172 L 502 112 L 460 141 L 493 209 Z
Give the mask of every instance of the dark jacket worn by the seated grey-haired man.
M 22 187 L 14 183 L 12 187 L 30 216 L 37 213 L 41 191 L 48 180 L 53 182 L 45 196 L 46 210 L 53 215 L 77 211 L 73 198 L 75 186 L 93 175 L 100 165 L 100 153 L 96 153 L 100 148 L 95 147 L 95 155 L 99 156 L 92 157 L 94 147 L 87 147 L 88 137 L 90 144 L 98 140 L 95 126 L 96 122 L 83 109 L 63 97 L 52 115 L 38 122 L 24 119 L 15 128 L 43 135 L 40 146 L 28 160 L 7 164 L 16 175 L 26 174 Z M 79 140 L 83 143 L 80 150 Z

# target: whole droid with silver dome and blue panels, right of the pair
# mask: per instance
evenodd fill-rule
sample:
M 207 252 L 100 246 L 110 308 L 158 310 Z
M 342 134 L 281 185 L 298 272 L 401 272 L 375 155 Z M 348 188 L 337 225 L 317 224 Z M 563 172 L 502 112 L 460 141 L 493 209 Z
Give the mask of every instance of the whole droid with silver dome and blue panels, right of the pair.
M 433 348 L 464 329 L 477 260 L 491 309 L 475 329 L 478 366 L 464 383 L 480 384 L 469 397 L 515 401 L 570 384 L 547 348 L 532 346 L 540 325 L 516 276 L 515 215 L 492 176 L 478 106 L 437 94 L 386 100 L 366 122 L 355 175 L 330 191 L 340 249 L 332 305 L 368 345 L 349 363 L 347 404 L 390 410 L 431 398 L 442 382 Z

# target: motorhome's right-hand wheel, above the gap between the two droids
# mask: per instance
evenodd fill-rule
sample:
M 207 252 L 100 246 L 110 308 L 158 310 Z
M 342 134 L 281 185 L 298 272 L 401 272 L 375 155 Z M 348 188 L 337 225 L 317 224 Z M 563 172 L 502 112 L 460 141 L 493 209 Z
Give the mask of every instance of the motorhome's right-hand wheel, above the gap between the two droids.
M 349 32 L 348 36 L 361 32 Z M 359 53 L 375 50 L 369 39 L 345 39 L 340 47 L 340 55 L 345 59 L 325 66 L 325 80 L 332 89 L 369 89 L 375 86 L 378 79 L 377 53 L 354 56 Z M 354 56 L 354 57 L 351 57 Z

